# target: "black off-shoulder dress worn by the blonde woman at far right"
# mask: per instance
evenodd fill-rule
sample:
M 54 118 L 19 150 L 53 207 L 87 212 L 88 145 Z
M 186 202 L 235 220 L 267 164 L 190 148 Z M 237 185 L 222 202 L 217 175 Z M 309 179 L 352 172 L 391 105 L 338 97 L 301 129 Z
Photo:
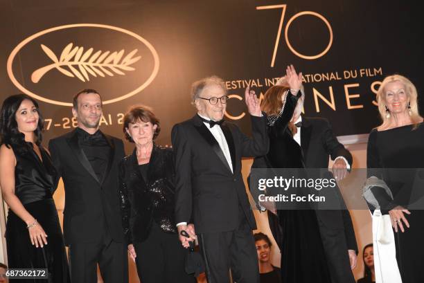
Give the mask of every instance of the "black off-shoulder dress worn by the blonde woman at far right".
M 383 214 L 388 214 L 388 210 L 395 206 L 407 208 L 420 199 L 422 201 L 424 188 L 415 185 L 412 190 L 412 181 L 417 181 L 417 173 L 422 175 L 424 168 L 423 123 L 418 124 L 416 128 L 407 125 L 386 131 L 376 129 L 371 131 L 366 152 L 366 166 L 371 172 L 375 171 L 377 174 L 380 172 L 380 176 L 377 177 L 385 181 L 393 194 L 394 201 L 389 203 L 386 210 L 382 209 Z M 373 168 L 382 170 L 372 170 Z M 409 211 L 411 214 L 405 214 L 405 218 L 410 228 L 405 228 L 405 232 L 400 230 L 395 232 L 396 259 L 403 282 L 422 283 L 424 282 L 424 207 Z

